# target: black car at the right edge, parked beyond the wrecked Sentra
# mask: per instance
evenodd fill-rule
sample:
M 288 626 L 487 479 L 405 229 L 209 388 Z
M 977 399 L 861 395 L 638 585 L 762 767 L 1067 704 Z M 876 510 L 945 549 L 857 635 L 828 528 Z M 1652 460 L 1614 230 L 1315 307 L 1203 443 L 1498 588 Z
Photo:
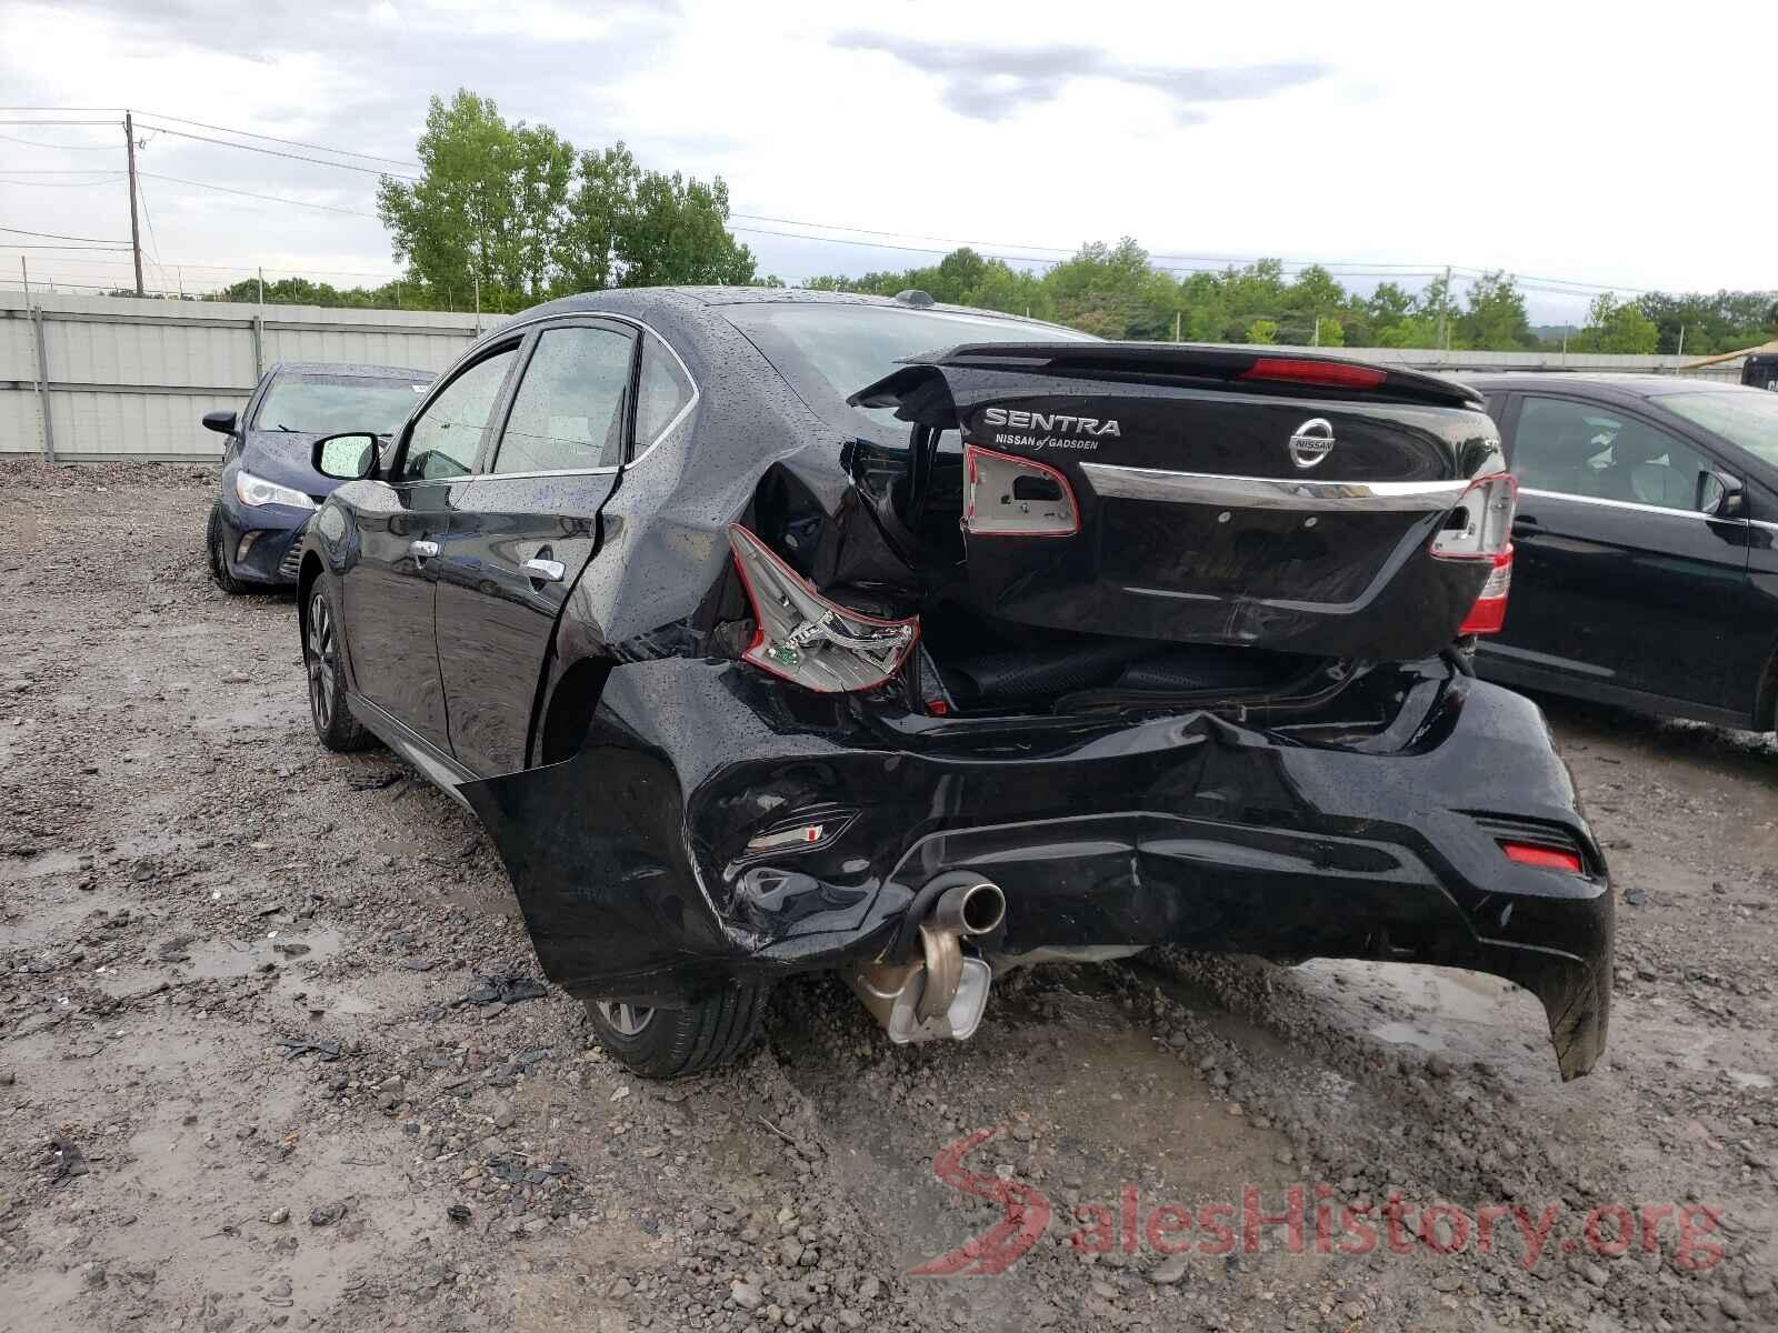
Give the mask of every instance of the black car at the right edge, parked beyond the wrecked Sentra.
M 1771 730 L 1778 395 L 1675 375 L 1488 375 L 1518 478 L 1490 681 Z

